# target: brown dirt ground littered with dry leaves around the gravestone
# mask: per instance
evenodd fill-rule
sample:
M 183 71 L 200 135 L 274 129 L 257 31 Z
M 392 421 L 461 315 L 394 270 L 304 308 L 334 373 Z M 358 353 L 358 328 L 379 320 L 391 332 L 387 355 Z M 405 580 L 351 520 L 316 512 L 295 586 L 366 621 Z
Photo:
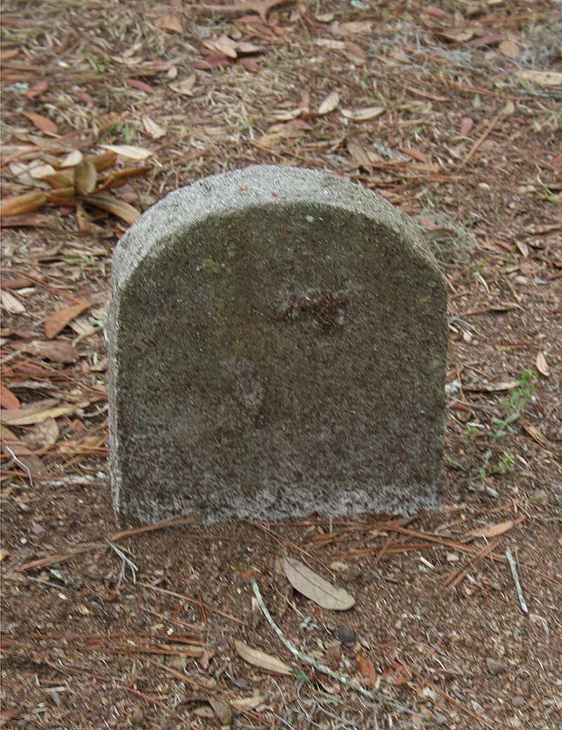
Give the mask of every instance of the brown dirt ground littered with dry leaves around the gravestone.
M 8 0 L 1 34 L 0 725 L 561 728 L 560 4 Z M 113 246 L 167 191 L 258 162 L 356 180 L 425 231 L 443 509 L 118 534 Z M 354 607 L 295 591 L 283 556 Z M 254 585 L 360 688 L 292 656 Z

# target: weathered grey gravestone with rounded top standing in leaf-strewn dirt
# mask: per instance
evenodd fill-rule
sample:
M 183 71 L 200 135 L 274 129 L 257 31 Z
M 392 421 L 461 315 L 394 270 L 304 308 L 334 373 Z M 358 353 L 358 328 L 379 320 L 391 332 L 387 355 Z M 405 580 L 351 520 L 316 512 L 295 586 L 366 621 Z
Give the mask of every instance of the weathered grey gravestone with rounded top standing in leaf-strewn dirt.
M 445 304 L 417 228 L 331 174 L 255 166 L 170 193 L 113 261 L 118 516 L 434 507 Z

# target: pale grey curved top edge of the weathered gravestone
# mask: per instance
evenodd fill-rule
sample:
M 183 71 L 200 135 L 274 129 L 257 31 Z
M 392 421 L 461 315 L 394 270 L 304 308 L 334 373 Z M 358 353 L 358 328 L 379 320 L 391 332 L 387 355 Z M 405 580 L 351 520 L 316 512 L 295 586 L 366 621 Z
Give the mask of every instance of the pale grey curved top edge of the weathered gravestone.
M 211 175 L 168 193 L 133 223 L 113 255 L 113 291 L 118 291 L 139 261 L 157 255 L 170 240 L 183 239 L 191 226 L 259 207 L 311 204 L 355 212 L 394 231 L 409 244 L 409 253 L 430 264 L 441 278 L 417 225 L 398 208 L 367 188 L 322 170 L 254 165 Z

